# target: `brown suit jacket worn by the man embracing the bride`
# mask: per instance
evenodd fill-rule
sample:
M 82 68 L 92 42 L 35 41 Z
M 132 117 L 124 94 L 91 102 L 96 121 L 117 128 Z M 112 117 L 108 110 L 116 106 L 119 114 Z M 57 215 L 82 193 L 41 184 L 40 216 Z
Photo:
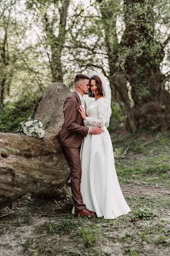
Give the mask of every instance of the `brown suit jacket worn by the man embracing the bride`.
M 84 126 L 82 116 L 78 111 L 80 105 L 80 98 L 75 92 L 65 99 L 64 123 L 59 132 L 59 140 L 64 147 L 80 147 L 83 137 L 88 134 L 88 127 Z

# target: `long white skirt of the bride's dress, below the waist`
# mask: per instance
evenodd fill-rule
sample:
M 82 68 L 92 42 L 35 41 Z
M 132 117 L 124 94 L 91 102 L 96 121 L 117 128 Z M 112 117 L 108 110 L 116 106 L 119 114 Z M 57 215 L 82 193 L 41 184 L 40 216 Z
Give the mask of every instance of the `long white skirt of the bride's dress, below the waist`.
M 118 184 L 112 141 L 105 128 L 100 135 L 88 134 L 81 147 L 82 199 L 97 217 L 115 219 L 130 208 Z

